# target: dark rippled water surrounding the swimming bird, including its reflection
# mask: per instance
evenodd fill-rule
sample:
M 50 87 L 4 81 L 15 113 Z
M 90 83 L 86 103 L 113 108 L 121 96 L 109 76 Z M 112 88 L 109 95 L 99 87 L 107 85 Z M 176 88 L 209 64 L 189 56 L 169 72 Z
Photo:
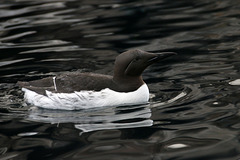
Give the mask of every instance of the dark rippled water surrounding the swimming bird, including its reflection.
M 0 159 L 240 159 L 239 0 L 1 0 Z M 122 51 L 174 51 L 149 67 L 149 105 L 25 106 L 18 80 L 111 74 Z

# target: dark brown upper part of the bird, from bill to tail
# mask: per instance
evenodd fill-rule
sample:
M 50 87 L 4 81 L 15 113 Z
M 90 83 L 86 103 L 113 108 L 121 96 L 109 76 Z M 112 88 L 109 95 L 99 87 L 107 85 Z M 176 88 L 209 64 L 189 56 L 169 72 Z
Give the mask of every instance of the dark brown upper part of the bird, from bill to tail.
M 100 91 L 104 88 L 118 92 L 130 92 L 144 84 L 141 74 L 149 65 L 174 54 L 176 53 L 153 54 L 142 50 L 129 50 L 117 56 L 113 76 L 69 72 L 56 76 L 55 80 L 53 77 L 47 77 L 30 82 L 18 82 L 18 85 L 39 94 L 45 94 L 45 90 L 71 93 L 81 90 Z

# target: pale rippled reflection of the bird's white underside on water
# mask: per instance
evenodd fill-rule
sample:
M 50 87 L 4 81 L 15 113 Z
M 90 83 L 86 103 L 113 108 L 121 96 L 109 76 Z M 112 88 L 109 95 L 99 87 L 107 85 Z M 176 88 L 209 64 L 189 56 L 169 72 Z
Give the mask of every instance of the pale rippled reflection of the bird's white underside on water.
M 91 132 L 152 126 L 149 105 L 106 107 L 101 109 L 61 111 L 34 108 L 28 120 L 44 123 L 74 123 L 76 129 Z

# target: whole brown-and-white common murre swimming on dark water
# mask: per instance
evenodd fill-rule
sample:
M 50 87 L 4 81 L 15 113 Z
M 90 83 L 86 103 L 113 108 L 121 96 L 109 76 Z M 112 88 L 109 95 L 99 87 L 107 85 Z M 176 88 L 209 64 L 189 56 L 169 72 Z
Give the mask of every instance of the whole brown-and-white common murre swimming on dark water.
M 41 108 L 78 110 L 103 106 L 146 104 L 149 90 L 142 72 L 175 55 L 129 50 L 117 56 L 114 75 L 72 72 L 30 82 L 18 82 L 27 103 Z

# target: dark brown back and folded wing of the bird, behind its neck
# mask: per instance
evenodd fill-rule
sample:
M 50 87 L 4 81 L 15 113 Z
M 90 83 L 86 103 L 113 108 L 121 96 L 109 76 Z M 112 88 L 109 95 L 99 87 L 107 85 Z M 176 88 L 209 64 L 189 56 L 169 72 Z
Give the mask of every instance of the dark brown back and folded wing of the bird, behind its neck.
M 100 91 L 114 88 L 112 76 L 96 73 L 69 72 L 55 77 L 47 77 L 30 82 L 18 82 L 22 88 L 45 94 L 46 90 L 56 93 L 72 93 L 74 91 Z

